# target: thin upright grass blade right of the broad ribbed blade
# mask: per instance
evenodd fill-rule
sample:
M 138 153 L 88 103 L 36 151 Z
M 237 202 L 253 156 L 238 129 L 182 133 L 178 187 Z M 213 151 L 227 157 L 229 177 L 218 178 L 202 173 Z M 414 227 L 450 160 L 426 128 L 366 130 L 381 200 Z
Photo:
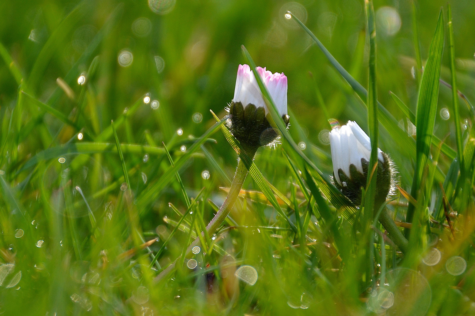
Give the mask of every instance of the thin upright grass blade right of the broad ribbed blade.
M 452 99 L 454 103 L 454 120 L 455 120 L 455 135 L 457 141 L 457 152 L 458 152 L 458 162 L 460 164 L 460 177 L 465 179 L 465 163 L 464 163 L 464 154 L 463 154 L 463 141 L 462 141 L 462 131 L 460 126 L 460 112 L 458 105 L 458 94 L 457 94 L 457 74 L 455 69 L 455 44 L 454 44 L 454 28 L 452 25 L 452 10 L 450 9 L 450 4 L 447 3 L 447 15 L 448 15 L 448 36 L 450 43 L 450 72 L 452 74 Z

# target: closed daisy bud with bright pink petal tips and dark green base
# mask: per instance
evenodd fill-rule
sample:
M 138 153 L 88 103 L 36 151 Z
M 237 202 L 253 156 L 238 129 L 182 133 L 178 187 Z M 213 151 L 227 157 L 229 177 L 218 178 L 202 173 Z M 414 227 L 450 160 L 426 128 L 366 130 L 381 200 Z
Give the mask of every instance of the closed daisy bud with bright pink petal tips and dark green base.
M 287 77 L 284 73 L 273 74 L 261 67 L 257 67 L 257 72 L 274 100 L 279 115 L 288 126 Z M 255 151 L 259 146 L 276 140 L 277 133 L 266 119 L 268 113 L 254 73 L 248 65 L 239 65 L 234 98 L 229 104 L 228 125 L 231 133 L 246 150 Z

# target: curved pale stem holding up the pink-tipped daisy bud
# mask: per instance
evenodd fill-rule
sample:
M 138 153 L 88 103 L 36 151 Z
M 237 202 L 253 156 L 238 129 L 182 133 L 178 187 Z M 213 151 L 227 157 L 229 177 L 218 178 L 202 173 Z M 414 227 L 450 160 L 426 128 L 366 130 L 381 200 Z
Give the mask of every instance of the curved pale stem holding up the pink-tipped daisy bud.
M 252 156 L 249 156 L 254 157 L 254 153 L 252 154 Z M 218 227 L 221 226 L 221 223 L 225 220 L 225 218 L 228 217 L 228 214 L 233 208 L 234 202 L 236 202 L 237 196 L 241 191 L 242 184 L 244 183 L 244 180 L 246 180 L 246 176 L 247 168 L 244 165 L 244 162 L 240 159 L 237 163 L 236 174 L 234 175 L 233 182 L 231 183 L 231 188 L 229 189 L 228 196 L 224 200 L 223 205 L 221 205 L 221 207 L 219 208 L 218 213 L 216 213 L 211 222 L 209 222 L 208 226 L 206 226 L 206 231 L 209 236 L 213 235 L 218 229 Z M 201 234 L 204 235 L 204 232 L 202 232 Z M 196 238 L 195 241 L 191 243 L 190 246 L 188 246 L 185 256 L 188 256 L 191 253 L 193 247 L 197 246 L 198 244 L 199 238 Z M 177 260 L 178 259 L 172 262 L 165 270 L 161 271 L 160 274 L 155 278 L 155 281 L 159 282 L 161 279 L 166 277 L 171 271 L 173 271 Z

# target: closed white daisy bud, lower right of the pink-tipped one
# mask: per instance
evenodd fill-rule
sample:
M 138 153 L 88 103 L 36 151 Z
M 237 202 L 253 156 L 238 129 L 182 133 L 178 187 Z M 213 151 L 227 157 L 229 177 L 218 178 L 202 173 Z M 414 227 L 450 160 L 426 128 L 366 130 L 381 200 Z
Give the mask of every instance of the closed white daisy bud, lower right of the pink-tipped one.
M 353 121 L 330 132 L 334 185 L 353 203 L 361 204 L 361 188 L 366 187 L 371 157 L 370 137 Z M 378 148 L 375 206 L 393 192 L 393 163 Z

